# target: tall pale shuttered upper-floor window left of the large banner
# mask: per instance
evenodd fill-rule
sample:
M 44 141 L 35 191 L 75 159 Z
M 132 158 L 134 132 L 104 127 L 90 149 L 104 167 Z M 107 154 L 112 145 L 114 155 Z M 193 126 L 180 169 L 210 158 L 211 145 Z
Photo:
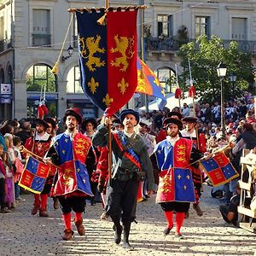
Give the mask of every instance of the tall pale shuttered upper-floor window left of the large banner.
M 32 46 L 50 46 L 49 9 L 33 9 Z

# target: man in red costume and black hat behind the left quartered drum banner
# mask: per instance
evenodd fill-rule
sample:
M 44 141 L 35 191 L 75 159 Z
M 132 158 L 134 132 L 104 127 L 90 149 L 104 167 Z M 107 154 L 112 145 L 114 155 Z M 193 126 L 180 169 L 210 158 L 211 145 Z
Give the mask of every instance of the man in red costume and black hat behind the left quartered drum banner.
M 33 154 L 38 155 L 38 157 L 44 158 L 44 155 L 49 150 L 52 138 L 51 135 L 46 132 L 46 129 L 49 127 L 49 125 L 43 119 L 35 119 L 35 123 L 35 135 L 26 139 L 24 148 L 31 151 Z M 49 175 L 49 177 L 47 177 L 46 183 L 44 184 L 44 189 L 41 194 L 34 194 L 34 203 L 31 210 L 32 215 L 36 215 L 39 210 L 40 217 L 49 217 L 49 214 L 47 212 L 47 201 L 52 182 L 53 175 Z

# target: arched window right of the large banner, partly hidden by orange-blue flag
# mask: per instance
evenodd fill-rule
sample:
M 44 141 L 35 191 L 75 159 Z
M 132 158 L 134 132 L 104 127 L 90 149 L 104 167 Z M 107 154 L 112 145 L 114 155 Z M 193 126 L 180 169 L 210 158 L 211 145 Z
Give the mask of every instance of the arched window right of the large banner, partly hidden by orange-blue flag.
M 166 93 L 172 93 L 172 80 L 175 78 L 175 73 L 170 67 L 160 67 L 156 70 L 156 76 L 160 80 L 160 84 L 165 88 Z

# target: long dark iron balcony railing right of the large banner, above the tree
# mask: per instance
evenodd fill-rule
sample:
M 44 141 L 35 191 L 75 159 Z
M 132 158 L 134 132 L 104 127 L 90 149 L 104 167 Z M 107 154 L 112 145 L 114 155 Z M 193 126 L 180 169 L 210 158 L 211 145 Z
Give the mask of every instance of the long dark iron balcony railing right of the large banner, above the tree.
M 227 48 L 232 41 L 236 40 L 224 40 L 224 47 Z M 195 42 L 195 39 L 180 41 L 175 38 L 146 38 L 145 48 L 155 51 L 176 51 L 182 44 L 187 44 L 188 42 Z M 256 41 L 239 40 L 236 42 L 238 43 L 238 49 L 242 52 L 256 54 Z

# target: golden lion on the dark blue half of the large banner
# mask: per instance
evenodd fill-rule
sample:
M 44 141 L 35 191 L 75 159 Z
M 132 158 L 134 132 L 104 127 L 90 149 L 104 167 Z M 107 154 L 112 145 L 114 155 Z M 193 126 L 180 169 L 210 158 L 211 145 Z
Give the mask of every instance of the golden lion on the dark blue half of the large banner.
M 100 48 L 100 40 L 102 39 L 101 36 L 97 35 L 96 38 L 79 38 L 79 44 L 82 47 L 80 54 L 84 59 L 88 59 L 86 62 L 86 67 L 89 68 L 91 72 L 96 71 L 96 67 L 103 67 L 105 66 L 105 61 L 102 61 L 100 57 L 94 56 L 96 52 L 104 53 L 105 49 Z M 93 67 L 94 66 L 94 67 Z

